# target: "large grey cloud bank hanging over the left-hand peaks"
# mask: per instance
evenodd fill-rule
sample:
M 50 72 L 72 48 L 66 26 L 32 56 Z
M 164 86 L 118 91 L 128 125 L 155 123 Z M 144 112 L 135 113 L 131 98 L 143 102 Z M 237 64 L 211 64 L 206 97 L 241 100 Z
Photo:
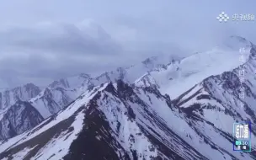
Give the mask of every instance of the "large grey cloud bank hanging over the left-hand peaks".
M 18 77 L 55 79 L 78 72 L 99 72 L 107 66 L 110 69 L 113 65 L 109 57 L 122 53 L 121 45 L 95 24 L 13 27 L 0 31 L 0 47 L 0 77 L 9 86 L 19 84 Z

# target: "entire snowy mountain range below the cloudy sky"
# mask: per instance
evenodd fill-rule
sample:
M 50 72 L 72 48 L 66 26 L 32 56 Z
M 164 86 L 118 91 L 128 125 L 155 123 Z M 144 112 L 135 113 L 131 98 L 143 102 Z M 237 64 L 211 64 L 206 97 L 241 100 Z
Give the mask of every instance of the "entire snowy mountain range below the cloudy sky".
M 255 125 L 253 152 L 232 151 L 233 123 L 256 122 L 255 70 L 255 45 L 235 36 L 179 60 L 60 79 L 5 111 L 0 159 L 255 159 Z

